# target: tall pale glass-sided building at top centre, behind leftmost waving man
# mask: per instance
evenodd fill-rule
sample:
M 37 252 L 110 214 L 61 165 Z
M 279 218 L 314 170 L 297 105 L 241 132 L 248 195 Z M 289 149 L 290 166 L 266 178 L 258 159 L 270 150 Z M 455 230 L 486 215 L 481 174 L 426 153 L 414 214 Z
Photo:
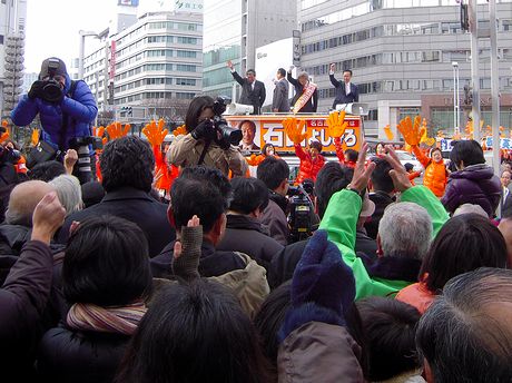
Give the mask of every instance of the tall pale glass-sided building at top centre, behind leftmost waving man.
M 256 48 L 293 36 L 296 11 L 296 0 L 205 0 L 204 92 L 232 96 L 234 80 L 226 61 L 242 75 L 254 69 Z

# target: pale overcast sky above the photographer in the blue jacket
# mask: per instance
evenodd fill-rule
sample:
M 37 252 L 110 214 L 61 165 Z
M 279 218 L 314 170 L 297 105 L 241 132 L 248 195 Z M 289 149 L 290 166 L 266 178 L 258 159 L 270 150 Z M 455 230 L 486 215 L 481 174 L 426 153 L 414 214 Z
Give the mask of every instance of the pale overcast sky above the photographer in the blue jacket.
M 155 8 L 160 2 L 139 0 L 139 8 Z M 52 56 L 69 66 L 72 58 L 78 58 L 78 31 L 105 30 L 116 6 L 117 0 L 28 0 L 26 72 L 39 72 L 42 60 Z

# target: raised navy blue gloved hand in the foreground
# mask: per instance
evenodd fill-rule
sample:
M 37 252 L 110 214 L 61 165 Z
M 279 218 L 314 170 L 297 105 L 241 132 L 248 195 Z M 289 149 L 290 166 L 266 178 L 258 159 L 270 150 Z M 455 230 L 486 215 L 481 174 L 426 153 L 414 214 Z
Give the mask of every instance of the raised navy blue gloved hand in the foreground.
M 292 308 L 278 333 L 284 341 L 289 333 L 308 322 L 345 325 L 354 304 L 355 279 L 343 262 L 337 246 L 317 230 L 309 239 L 292 281 Z

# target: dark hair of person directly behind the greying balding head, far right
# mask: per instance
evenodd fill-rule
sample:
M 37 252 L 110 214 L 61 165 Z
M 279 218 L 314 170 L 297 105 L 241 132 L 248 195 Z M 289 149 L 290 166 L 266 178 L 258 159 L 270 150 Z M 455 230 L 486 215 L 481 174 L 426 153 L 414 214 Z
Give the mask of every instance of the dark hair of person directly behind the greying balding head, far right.
M 477 214 L 450 218 L 437 233 L 423 259 L 420 277 L 439 294 L 446 282 L 479 267 L 505 267 L 506 244 L 491 222 Z

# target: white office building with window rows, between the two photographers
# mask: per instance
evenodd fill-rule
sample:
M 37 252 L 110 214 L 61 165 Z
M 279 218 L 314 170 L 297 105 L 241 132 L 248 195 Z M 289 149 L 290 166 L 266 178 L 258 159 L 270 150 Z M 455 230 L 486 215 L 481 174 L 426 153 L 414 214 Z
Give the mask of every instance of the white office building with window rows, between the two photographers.
M 83 79 L 100 116 L 147 121 L 184 115 L 201 91 L 201 2 L 194 4 L 194 10 L 184 4 L 140 14 L 126 28 L 108 28 L 88 40 L 95 48 L 87 49 Z

